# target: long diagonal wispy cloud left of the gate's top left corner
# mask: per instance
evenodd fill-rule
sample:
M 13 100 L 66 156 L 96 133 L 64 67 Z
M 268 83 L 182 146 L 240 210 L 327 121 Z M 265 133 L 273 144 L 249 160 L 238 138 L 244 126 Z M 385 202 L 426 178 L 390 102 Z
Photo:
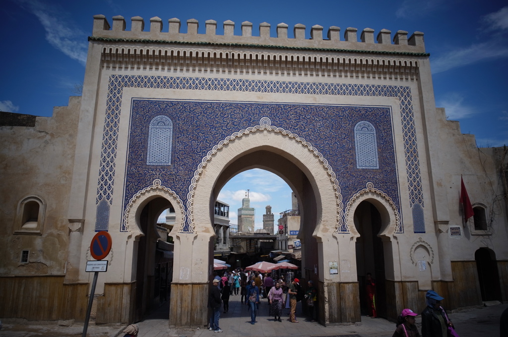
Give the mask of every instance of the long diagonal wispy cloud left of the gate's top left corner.
M 48 6 L 37 0 L 21 0 L 19 4 L 26 6 L 39 19 L 46 31 L 46 40 L 54 48 L 83 65 L 86 63 L 87 34 L 66 21 L 66 13 L 60 13 L 54 5 Z

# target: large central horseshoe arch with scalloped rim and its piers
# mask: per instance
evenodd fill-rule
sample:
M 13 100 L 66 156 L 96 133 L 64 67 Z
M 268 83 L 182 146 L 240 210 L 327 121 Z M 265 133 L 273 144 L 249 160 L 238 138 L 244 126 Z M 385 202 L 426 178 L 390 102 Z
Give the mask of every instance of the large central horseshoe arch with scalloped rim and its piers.
M 351 321 L 350 317 L 359 318 L 359 306 L 349 316 L 329 315 L 329 285 L 348 279 L 350 274 L 332 275 L 328 261 L 338 261 L 341 249 L 344 255 L 348 247 L 338 243 L 342 238 L 336 235 L 342 221 L 342 200 L 340 188 L 335 180 L 331 167 L 315 148 L 291 132 L 271 127 L 263 123 L 256 128 L 244 130 L 243 134 L 227 139 L 209 152 L 196 171 L 194 185 L 189 189 L 187 216 L 192 233 L 180 232 L 175 242 L 175 273 L 171 298 L 170 326 L 172 325 L 206 325 L 206 299 L 211 276 L 211 238 L 213 206 L 215 199 L 225 183 L 236 174 L 259 167 L 282 177 L 293 189 L 301 209 L 301 227 L 307 228 L 304 240 L 315 243 L 315 252 L 302 257 L 303 263 L 315 262 L 319 277 L 319 290 L 322 323 Z M 307 232 L 310 234 L 307 234 Z M 346 242 L 350 234 L 345 234 Z M 305 241 L 304 241 L 305 243 Z M 313 254 L 313 255 L 312 255 Z M 186 257 L 184 259 L 184 256 Z M 191 257 L 192 260 L 188 258 Z M 184 265 L 184 260 L 189 263 Z M 326 263 L 324 261 L 327 261 Z M 325 282 L 325 279 L 326 282 Z M 348 282 L 339 290 L 343 300 L 353 302 L 358 285 Z M 175 291 L 176 290 L 176 291 Z M 357 300 L 355 300 L 357 302 Z M 182 305 L 184 306 L 182 308 Z M 186 309 L 193 308 L 187 313 Z M 337 302 L 333 302 L 337 306 Z M 177 309 L 178 308 L 178 309 Z M 337 312 L 335 308 L 332 310 Z M 340 311 L 339 311 L 340 313 Z M 346 315 L 346 313 L 344 313 Z

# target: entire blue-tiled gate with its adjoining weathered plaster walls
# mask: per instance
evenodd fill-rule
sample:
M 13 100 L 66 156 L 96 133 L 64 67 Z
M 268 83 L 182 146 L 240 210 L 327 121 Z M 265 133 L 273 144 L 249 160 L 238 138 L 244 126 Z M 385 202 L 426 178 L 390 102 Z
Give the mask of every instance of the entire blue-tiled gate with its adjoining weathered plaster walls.
M 392 320 L 423 310 L 430 288 L 448 309 L 508 300 L 507 151 L 479 151 L 435 107 L 423 33 L 130 21 L 94 16 L 81 97 L 49 118 L 0 114 L 0 317 L 83 321 L 90 242 L 108 231 L 96 323 L 158 308 L 164 274 L 169 325 L 206 326 L 214 246 L 227 240 L 215 203 L 253 167 L 295 193 L 322 324 L 361 320 L 368 272 Z M 170 207 L 172 278 L 156 272 Z M 254 216 L 245 198 L 245 251 L 259 248 Z

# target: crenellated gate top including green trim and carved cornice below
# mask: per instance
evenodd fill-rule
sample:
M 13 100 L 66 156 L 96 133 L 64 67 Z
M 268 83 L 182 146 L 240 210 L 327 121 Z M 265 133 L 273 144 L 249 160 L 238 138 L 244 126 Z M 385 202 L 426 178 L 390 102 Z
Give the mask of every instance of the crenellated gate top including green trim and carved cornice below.
M 224 35 L 217 35 L 217 22 L 207 20 L 205 33 L 198 33 L 199 22 L 187 20 L 187 32 L 173 18 L 167 26 L 162 19 L 150 19 L 145 31 L 141 17 L 133 17 L 131 30 L 125 30 L 125 19 L 113 17 L 113 26 L 103 15 L 94 16 L 93 36 L 89 41 L 101 45 L 105 69 L 148 69 L 169 72 L 235 74 L 278 74 L 281 76 L 338 76 L 388 79 L 415 79 L 420 61 L 428 58 L 423 33 L 395 33 L 383 29 L 374 39 L 374 30 L 348 27 L 340 38 L 340 28 L 314 25 L 310 39 L 305 25 L 296 24 L 294 38 L 288 37 L 289 26 L 279 23 L 277 37 L 270 36 L 270 24 L 259 25 L 259 36 L 252 36 L 252 23 L 241 24 L 242 35 L 234 35 L 235 23 L 223 23 Z

